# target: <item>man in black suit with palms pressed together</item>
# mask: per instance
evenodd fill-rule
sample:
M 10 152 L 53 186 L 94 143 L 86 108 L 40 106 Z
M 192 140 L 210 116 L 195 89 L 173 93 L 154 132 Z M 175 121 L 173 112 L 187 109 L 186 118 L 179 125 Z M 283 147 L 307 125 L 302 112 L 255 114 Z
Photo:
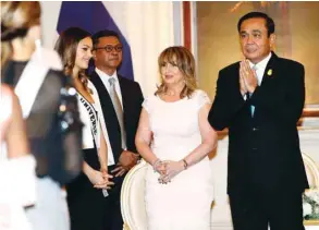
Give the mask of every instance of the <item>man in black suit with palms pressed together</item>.
M 303 230 L 308 187 L 296 123 L 305 102 L 304 66 L 271 48 L 274 23 L 250 12 L 237 24 L 245 60 L 219 72 L 209 112 L 229 128 L 228 194 L 234 230 Z

